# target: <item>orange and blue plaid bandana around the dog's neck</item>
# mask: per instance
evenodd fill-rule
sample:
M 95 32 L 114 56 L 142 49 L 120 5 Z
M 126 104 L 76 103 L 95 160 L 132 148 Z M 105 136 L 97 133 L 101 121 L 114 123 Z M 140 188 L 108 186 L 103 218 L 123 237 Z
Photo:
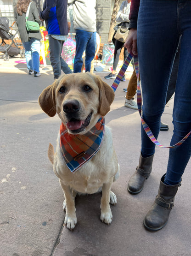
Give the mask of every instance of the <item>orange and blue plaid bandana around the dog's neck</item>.
M 101 117 L 96 125 L 84 135 L 69 134 L 66 126 L 60 125 L 60 151 L 72 173 L 96 155 L 103 140 L 104 130 L 104 117 Z

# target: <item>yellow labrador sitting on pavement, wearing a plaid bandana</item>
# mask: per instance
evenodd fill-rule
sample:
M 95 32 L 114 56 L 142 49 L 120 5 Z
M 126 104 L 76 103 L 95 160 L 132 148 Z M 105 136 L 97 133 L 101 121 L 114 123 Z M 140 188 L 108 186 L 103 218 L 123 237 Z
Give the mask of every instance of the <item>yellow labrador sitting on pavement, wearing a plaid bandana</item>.
M 62 121 L 56 153 L 50 144 L 48 156 L 64 192 L 64 223 L 70 230 L 77 223 L 78 192 L 93 194 L 101 189 L 100 219 L 112 222 L 110 203 L 115 205 L 117 198 L 111 187 L 119 177 L 119 165 L 104 116 L 113 99 L 112 88 L 88 72 L 64 75 L 39 96 L 43 111 L 51 117 L 57 113 Z

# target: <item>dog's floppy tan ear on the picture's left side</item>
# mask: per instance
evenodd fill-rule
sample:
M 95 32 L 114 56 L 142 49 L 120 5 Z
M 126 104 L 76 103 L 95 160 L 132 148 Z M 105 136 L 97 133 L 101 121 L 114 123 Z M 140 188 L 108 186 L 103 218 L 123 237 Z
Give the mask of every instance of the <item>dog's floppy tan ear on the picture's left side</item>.
M 46 87 L 39 96 L 39 105 L 42 110 L 49 116 L 56 115 L 55 91 L 58 80 Z

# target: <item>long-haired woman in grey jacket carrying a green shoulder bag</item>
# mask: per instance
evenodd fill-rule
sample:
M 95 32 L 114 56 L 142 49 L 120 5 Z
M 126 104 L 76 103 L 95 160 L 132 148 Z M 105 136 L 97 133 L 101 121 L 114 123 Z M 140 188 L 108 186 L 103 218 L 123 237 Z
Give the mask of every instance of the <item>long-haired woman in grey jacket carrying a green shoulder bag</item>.
M 40 24 L 39 13 L 37 7 L 30 0 L 18 0 L 15 6 L 15 21 L 19 30 L 22 44 L 25 49 L 25 58 L 27 61 L 28 74 L 34 74 L 34 77 L 39 77 L 39 57 L 40 57 L 40 40 L 42 39 L 39 32 L 28 32 L 25 25 L 26 12 L 30 4 L 28 20 L 36 21 Z

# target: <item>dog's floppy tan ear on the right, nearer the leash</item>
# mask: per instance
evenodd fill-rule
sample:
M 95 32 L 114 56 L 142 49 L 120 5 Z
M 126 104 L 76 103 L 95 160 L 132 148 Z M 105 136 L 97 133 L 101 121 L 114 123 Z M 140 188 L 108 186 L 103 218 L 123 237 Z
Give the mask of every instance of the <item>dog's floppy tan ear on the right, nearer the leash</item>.
M 107 112 L 110 110 L 110 105 L 112 104 L 114 100 L 114 91 L 113 89 L 105 82 L 101 80 L 100 77 L 96 77 L 98 80 L 97 84 L 100 89 L 100 109 L 99 113 L 102 116 L 105 116 Z

